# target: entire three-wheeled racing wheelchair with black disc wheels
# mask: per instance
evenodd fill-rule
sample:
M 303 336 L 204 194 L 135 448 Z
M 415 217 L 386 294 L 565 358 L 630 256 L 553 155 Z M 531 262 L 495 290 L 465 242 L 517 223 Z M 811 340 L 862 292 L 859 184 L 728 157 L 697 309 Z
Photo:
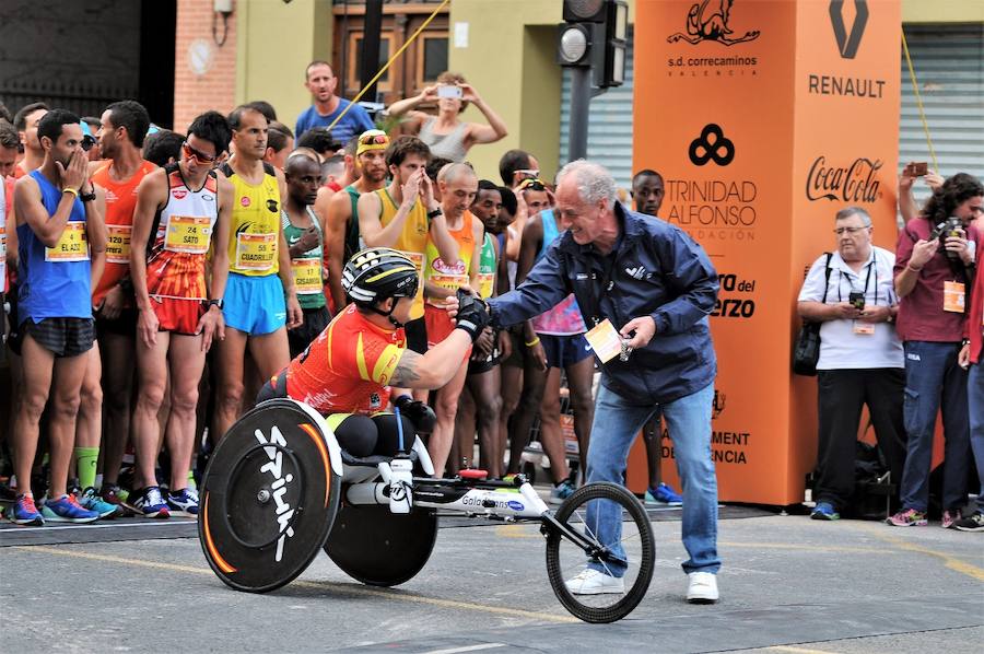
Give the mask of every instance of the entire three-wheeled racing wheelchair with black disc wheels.
M 260 404 L 236 422 L 206 470 L 198 521 L 209 565 L 237 591 L 266 593 L 301 574 L 319 549 L 353 579 L 374 586 L 411 580 L 426 564 L 438 512 L 534 522 L 547 541 L 547 576 L 560 603 L 586 622 L 612 622 L 642 600 L 655 547 L 645 509 L 623 487 L 589 483 L 557 511 L 523 476 L 487 480 L 480 470 L 434 479 L 423 442 L 408 454 L 355 457 L 325 419 L 293 399 Z M 414 475 L 414 472 L 417 475 Z M 588 512 L 622 512 L 617 541 L 599 542 Z M 565 584 L 585 563 L 624 571 L 623 593 L 574 594 Z

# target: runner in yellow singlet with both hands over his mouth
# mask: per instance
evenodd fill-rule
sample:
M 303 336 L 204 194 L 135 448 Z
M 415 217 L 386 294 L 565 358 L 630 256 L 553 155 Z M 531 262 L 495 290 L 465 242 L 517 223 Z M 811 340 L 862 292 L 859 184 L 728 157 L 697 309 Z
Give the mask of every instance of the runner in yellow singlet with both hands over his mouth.
M 442 258 L 457 260 L 458 244 L 447 231 L 447 220 L 425 174 L 431 151 L 415 137 L 400 137 L 386 150 L 393 180 L 386 188 L 359 198 L 359 231 L 366 247 L 393 247 L 405 253 L 423 271 L 427 238 Z M 423 281 L 406 325 L 407 346 L 425 352 Z

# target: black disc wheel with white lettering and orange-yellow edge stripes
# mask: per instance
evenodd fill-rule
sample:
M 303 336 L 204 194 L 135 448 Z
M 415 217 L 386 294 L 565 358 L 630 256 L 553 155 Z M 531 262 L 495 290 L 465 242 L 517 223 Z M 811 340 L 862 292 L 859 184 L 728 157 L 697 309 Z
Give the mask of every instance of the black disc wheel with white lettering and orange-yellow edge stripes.
M 325 544 L 341 481 L 323 425 L 293 400 L 271 400 L 239 419 L 212 453 L 198 536 L 209 565 L 233 588 L 279 588 Z

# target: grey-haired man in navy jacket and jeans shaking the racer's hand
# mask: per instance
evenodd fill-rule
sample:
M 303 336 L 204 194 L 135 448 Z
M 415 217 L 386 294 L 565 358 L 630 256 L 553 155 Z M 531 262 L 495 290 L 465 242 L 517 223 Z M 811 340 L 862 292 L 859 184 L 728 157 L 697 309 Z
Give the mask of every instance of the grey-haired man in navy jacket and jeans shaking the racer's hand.
M 717 479 L 711 459 L 717 363 L 707 324 L 717 272 L 683 231 L 621 206 L 614 179 L 600 165 L 569 163 L 558 174 L 555 196 L 555 213 L 566 231 L 526 281 L 489 302 L 492 323 L 515 325 L 573 292 L 588 327 L 621 339 L 618 355 L 595 348 L 601 388 L 587 480 L 622 483 L 640 429 L 653 417 L 665 417 L 683 486 L 687 600 L 717 602 Z M 587 523 L 601 542 L 620 539 L 617 506 L 593 502 Z M 578 595 L 622 593 L 620 573 L 588 564 L 567 587 Z

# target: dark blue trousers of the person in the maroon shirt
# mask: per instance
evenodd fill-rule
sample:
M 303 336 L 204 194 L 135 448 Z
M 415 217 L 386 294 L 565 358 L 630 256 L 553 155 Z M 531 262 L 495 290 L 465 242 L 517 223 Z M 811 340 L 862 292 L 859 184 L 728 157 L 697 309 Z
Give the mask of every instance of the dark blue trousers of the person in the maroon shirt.
M 946 447 L 942 507 L 967 503 L 970 427 L 967 371 L 957 365 L 960 343 L 906 341 L 905 399 L 902 405 L 906 443 L 902 471 L 902 509 L 926 511 L 936 414 L 942 408 Z

